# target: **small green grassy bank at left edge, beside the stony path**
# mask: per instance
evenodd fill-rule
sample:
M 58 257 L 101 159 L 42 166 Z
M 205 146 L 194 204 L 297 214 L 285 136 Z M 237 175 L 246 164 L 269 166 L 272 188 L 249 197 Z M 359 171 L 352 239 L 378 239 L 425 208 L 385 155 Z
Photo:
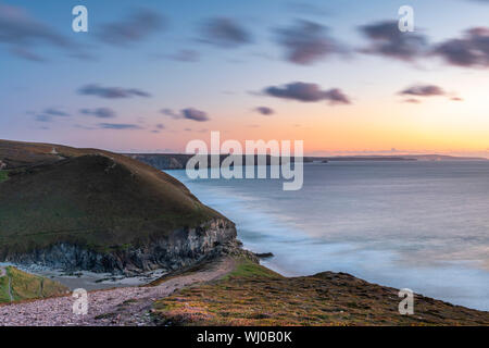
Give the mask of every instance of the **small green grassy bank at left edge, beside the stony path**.
M 0 273 L 0 303 L 66 294 L 68 288 L 49 278 L 22 272 L 13 266 Z

